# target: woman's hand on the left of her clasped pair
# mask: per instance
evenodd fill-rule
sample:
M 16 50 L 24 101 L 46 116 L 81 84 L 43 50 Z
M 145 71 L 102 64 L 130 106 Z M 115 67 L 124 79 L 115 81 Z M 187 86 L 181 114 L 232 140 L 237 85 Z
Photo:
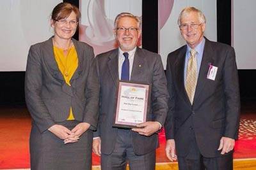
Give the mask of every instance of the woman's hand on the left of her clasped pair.
M 56 136 L 58 136 L 58 138 L 60 139 L 67 139 L 68 136 L 72 136 L 74 133 L 71 132 L 69 129 L 67 129 L 67 127 L 63 126 L 63 125 L 52 125 L 48 131 L 52 132 L 53 134 L 55 134 Z

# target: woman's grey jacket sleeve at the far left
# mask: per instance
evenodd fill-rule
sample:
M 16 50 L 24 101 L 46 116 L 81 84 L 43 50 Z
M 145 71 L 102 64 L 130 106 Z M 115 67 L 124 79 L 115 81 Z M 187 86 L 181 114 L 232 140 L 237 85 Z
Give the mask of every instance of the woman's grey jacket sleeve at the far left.
M 54 125 L 54 121 L 40 95 L 43 81 L 39 49 L 31 46 L 25 75 L 25 99 L 32 120 L 40 132 L 44 132 Z

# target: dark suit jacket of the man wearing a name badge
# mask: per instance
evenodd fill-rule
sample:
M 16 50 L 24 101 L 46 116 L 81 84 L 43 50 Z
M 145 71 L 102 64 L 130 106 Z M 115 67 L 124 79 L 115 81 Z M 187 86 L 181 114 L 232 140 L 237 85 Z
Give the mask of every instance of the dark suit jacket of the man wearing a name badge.
M 204 157 L 217 157 L 222 136 L 237 139 L 239 127 L 239 84 L 234 48 L 205 38 L 193 104 L 184 87 L 187 46 L 169 53 L 166 76 L 170 94 L 166 118 L 166 139 L 175 139 L 178 156 L 196 143 Z M 207 79 L 209 65 L 218 67 L 215 80 Z M 195 137 L 194 136 L 195 133 Z

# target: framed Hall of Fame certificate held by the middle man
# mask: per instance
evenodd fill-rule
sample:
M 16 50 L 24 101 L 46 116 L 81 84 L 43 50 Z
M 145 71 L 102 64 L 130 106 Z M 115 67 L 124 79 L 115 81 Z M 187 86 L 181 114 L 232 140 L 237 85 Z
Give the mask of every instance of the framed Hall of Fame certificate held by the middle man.
M 113 127 L 132 128 L 146 122 L 150 90 L 148 84 L 118 81 Z

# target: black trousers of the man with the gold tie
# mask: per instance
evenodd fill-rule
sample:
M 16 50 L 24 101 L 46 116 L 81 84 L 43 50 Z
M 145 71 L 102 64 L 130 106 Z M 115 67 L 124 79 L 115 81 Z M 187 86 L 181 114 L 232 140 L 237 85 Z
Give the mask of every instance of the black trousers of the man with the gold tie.
M 196 139 L 191 139 L 186 157 L 178 157 L 179 170 L 232 170 L 233 152 L 221 157 L 206 158 L 201 155 Z

